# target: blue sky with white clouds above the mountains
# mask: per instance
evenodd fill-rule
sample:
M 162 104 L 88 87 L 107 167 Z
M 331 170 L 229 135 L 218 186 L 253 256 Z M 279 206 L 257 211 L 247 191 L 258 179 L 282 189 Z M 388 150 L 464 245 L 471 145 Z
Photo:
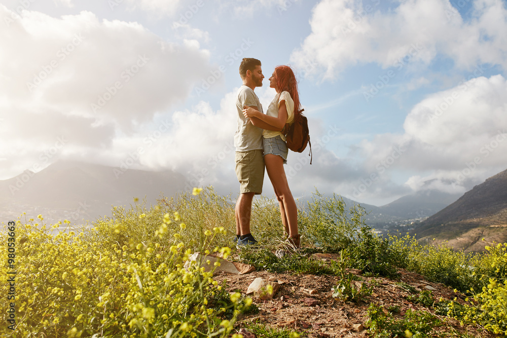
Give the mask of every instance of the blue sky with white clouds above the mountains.
M 507 169 L 506 1 L 3 0 L 0 21 L 0 179 L 72 160 L 237 196 L 243 57 L 265 108 L 274 68 L 297 74 L 296 198 L 380 206 Z

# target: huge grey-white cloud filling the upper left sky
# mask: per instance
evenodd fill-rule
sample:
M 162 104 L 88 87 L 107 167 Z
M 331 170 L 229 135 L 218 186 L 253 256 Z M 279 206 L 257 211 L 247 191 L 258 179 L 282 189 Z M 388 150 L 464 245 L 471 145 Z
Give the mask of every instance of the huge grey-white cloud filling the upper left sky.
M 0 130 L 3 175 L 41 165 L 58 137 L 59 156 L 97 157 L 136 133 L 211 69 L 196 44 L 170 44 L 135 22 L 100 22 L 90 12 L 53 18 L 0 5 Z M 7 178 L 5 177 L 5 178 Z

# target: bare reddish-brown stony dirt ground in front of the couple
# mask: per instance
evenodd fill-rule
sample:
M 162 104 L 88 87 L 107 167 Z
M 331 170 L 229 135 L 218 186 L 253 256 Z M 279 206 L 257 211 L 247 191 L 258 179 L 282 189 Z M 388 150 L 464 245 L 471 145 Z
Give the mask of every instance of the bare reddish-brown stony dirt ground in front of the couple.
M 337 255 L 325 254 L 325 258 L 319 259 L 337 259 Z M 215 274 L 214 279 L 222 282 L 227 281 L 228 291 L 240 290 L 246 293 L 250 283 L 258 277 L 265 280 L 278 283 L 281 288 L 272 299 L 262 300 L 254 294 L 250 294 L 253 303 L 259 308 L 257 314 L 240 315 L 236 323 L 237 330 L 241 330 L 245 338 L 255 338 L 253 334 L 245 334 L 245 324 L 252 321 L 258 321 L 266 326 L 289 328 L 301 333 L 302 337 L 327 338 L 327 337 L 370 337 L 366 327 L 368 319 L 367 309 L 370 303 L 375 303 L 388 308 L 398 306 L 400 313 L 391 316 L 401 318 L 407 311 L 424 310 L 435 314 L 433 309 L 410 302 L 406 297 L 410 294 L 396 286 L 396 282 L 405 282 L 411 284 L 416 290 L 430 289 L 435 301 L 440 297 L 444 299 L 454 299 L 465 303 L 465 296 L 456 293 L 452 289 L 440 283 L 426 281 L 423 276 L 399 270 L 400 279 L 393 281 L 382 277 L 364 277 L 361 271 L 351 270 L 355 275 L 360 276 L 361 282 L 368 286 L 374 286 L 373 292 L 366 297 L 366 302 L 352 303 L 339 301 L 332 296 L 332 287 L 337 285 L 339 278 L 331 275 L 304 275 L 295 273 L 270 273 L 267 271 L 256 271 L 245 275 Z M 353 281 L 353 283 L 361 283 Z M 438 316 L 443 325 L 436 327 L 434 333 L 447 332 L 454 330 L 461 333 L 467 332 L 470 337 L 499 337 L 500 335 L 483 332 L 477 326 L 461 326 L 459 322 L 448 317 Z

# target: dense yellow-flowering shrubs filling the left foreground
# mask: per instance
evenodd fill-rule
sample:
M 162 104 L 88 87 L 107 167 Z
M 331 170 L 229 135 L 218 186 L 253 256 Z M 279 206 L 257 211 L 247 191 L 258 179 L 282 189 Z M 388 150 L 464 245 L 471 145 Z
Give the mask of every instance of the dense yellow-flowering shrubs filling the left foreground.
M 141 225 L 145 217 L 137 216 Z M 144 241 L 131 237 L 122 247 L 101 241 L 104 233 L 118 234 L 114 222 L 104 233 L 91 228 L 87 234 L 52 234 L 60 224 L 46 229 L 31 220 L 18 221 L 16 236 L 25 239 L 16 246 L 18 321 L 15 331 L 3 325 L 2 336 L 229 336 L 251 299 L 241 302 L 239 293 L 224 299 L 223 286 L 211 272 L 195 264 L 185 269 L 193 251 L 179 240 L 185 227 L 169 220 L 160 219 L 159 228 L 142 237 Z M 174 235 L 167 238 L 170 228 Z M 224 232 L 206 231 L 203 247 Z M 5 232 L 0 240 L 7 242 Z M 225 255 L 230 251 L 216 250 Z M 0 291 L 7 294 L 5 270 Z

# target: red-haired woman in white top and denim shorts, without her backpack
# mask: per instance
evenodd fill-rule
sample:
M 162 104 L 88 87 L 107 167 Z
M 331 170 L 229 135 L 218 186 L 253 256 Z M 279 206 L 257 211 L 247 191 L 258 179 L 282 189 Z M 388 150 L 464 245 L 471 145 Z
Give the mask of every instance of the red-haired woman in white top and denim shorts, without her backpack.
M 285 136 L 276 130 L 282 130 L 286 123 L 294 122 L 294 112 L 301 111 L 299 102 L 298 83 L 291 67 L 277 66 L 269 78 L 269 86 L 274 88 L 277 95 L 270 103 L 266 115 L 248 106 L 244 106 L 243 115 L 246 118 L 256 117 L 272 126 L 272 130 L 263 131 L 264 163 L 269 179 L 273 184 L 276 198 L 280 204 L 280 214 L 283 226 L 288 234 L 287 241 L 299 248 L 298 208 L 291 190 L 283 164 L 287 163 L 288 148 Z M 255 119 L 253 119 L 255 121 Z M 252 121 L 250 119 L 250 121 Z M 255 122 L 252 122 L 255 125 Z

